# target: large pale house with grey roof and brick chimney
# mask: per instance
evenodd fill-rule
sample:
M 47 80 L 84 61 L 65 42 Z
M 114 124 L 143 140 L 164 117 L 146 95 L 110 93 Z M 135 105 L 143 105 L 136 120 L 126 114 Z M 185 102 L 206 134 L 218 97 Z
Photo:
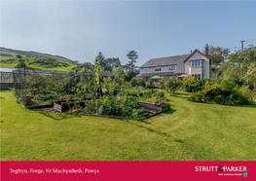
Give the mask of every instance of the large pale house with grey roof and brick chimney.
M 167 57 L 152 58 L 139 67 L 140 74 L 146 81 L 159 75 L 167 79 L 176 76 L 179 78 L 194 76 L 197 79 L 210 78 L 210 59 L 208 58 L 208 46 L 205 54 L 195 50 L 191 54 L 181 54 Z

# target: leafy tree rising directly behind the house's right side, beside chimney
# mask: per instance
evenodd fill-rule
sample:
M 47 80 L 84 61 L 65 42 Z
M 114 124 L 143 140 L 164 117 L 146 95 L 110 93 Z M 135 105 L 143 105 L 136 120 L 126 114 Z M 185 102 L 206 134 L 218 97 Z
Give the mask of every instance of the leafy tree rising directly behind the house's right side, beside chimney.
M 205 51 L 203 53 L 205 54 Z M 228 54 L 230 54 L 230 49 L 224 49 L 222 47 L 213 47 L 212 45 L 209 46 L 209 58 L 211 61 L 211 66 L 220 66 L 224 62 Z

